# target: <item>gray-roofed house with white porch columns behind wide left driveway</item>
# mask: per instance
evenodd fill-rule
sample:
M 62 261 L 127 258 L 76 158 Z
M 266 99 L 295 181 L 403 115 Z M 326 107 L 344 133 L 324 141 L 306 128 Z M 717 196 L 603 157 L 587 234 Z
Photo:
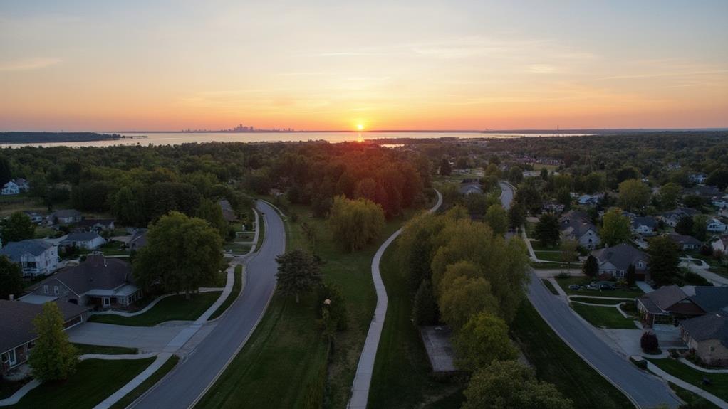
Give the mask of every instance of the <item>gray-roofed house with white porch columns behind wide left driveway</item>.
M 93 254 L 75 267 L 66 267 L 31 286 L 22 301 L 47 299 L 68 301 L 84 307 L 127 307 L 143 293 L 135 286 L 132 268 L 122 259 Z

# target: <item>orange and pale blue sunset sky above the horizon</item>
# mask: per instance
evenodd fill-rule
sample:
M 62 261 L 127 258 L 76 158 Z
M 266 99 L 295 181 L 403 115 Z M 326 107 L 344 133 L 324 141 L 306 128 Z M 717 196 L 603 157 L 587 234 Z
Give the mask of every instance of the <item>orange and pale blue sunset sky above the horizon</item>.
M 0 2 L 0 130 L 728 127 L 728 1 Z

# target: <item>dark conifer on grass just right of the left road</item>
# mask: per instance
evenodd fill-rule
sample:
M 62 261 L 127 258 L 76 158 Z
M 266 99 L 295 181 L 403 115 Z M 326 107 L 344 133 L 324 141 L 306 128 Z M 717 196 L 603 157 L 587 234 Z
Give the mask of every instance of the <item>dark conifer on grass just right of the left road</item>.
M 276 257 L 278 262 L 277 290 L 284 295 L 306 293 L 321 283 L 319 261 L 308 251 L 296 249 Z

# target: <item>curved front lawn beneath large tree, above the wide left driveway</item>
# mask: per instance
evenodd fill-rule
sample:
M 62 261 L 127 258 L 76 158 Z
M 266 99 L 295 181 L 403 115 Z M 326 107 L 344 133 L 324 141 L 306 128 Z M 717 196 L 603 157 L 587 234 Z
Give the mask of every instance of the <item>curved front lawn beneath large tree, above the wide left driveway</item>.
M 191 299 L 186 299 L 184 294 L 170 296 L 159 301 L 149 311 L 132 317 L 121 315 L 92 315 L 89 321 L 92 323 L 106 323 L 116 325 L 130 325 L 132 327 L 153 327 L 167 321 L 194 321 L 210 308 L 221 291 L 210 293 L 191 294 Z

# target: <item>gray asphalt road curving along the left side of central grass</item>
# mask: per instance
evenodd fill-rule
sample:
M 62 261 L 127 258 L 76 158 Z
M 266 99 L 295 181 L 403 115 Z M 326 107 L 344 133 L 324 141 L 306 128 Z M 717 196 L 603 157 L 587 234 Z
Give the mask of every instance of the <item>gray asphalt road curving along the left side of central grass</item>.
M 264 214 L 265 237 L 258 253 L 248 260 L 242 294 L 197 349 L 133 408 L 189 408 L 253 333 L 275 289 L 275 258 L 285 251 L 282 220 L 266 203 L 258 201 L 257 208 Z

